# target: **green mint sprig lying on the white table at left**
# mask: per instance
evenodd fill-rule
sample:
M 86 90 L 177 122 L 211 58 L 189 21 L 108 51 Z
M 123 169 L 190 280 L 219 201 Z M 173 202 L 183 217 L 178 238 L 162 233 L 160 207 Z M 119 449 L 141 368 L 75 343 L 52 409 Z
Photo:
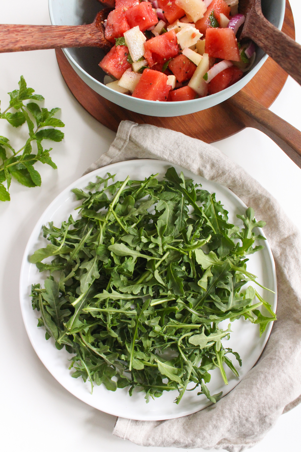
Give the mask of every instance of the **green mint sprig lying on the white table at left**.
M 34 89 L 27 87 L 26 81 L 21 75 L 19 89 L 8 93 L 9 106 L 2 113 L 0 112 L 0 119 L 5 119 L 13 127 L 20 127 L 24 122 L 28 126 L 28 139 L 18 151 L 15 151 L 10 145 L 8 138 L 0 136 L 0 201 L 10 201 L 9 186 L 12 177 L 26 187 L 41 185 L 41 176 L 33 167 L 37 161 L 56 169 L 56 164 L 49 155 L 52 148 L 44 150 L 42 140 L 62 141 L 64 133 L 54 127 L 64 127 L 65 124 L 60 119 L 54 118 L 60 108 L 52 108 L 51 111 L 48 111 L 47 108 L 41 109 L 35 102 L 29 102 L 25 106 L 23 101 L 27 99 L 44 100 L 40 94 L 33 93 Z M 11 109 L 14 113 L 9 111 Z M 32 119 L 36 122 L 36 127 Z M 35 150 L 32 149 L 34 141 L 36 142 Z M 3 185 L 5 181 L 7 189 Z

